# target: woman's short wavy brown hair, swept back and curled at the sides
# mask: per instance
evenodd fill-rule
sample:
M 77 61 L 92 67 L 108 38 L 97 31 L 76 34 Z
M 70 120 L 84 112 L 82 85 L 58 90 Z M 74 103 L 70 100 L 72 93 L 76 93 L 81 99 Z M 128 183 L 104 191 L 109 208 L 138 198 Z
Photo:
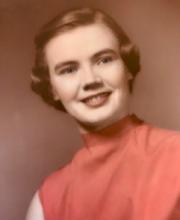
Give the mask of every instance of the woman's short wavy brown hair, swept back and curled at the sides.
M 31 88 L 48 104 L 65 111 L 62 103 L 54 99 L 49 76 L 49 68 L 45 60 L 45 46 L 57 35 L 68 32 L 77 27 L 101 23 L 107 26 L 119 42 L 120 56 L 132 74 L 129 82 L 132 91 L 135 76 L 140 71 L 140 58 L 137 47 L 130 41 L 123 29 L 105 12 L 93 8 L 78 8 L 58 14 L 53 20 L 45 24 L 35 37 L 35 63 L 32 70 Z

